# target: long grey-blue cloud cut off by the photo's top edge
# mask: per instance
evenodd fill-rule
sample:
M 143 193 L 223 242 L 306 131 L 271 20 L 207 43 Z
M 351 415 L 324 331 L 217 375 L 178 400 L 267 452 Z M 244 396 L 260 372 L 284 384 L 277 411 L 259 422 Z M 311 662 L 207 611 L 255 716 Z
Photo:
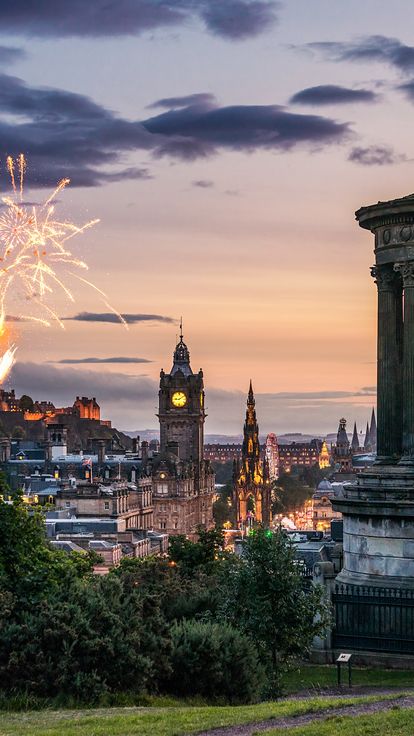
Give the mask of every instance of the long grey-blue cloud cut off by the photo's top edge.
M 241 40 L 277 20 L 274 0 L 16 0 L 0 5 L 3 33 L 40 37 L 138 35 L 201 20 L 210 33 Z

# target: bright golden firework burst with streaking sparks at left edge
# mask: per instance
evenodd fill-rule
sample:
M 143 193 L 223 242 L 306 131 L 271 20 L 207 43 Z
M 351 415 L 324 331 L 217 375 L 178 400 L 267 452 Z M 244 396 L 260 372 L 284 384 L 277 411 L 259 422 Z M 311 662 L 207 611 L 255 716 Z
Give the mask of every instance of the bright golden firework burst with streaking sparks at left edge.
M 57 195 L 70 183 L 61 179 L 50 196 L 41 205 L 26 206 L 23 202 L 26 159 L 21 153 L 16 161 L 7 156 L 6 169 L 10 176 L 13 196 L 2 197 L 5 211 L 0 216 L 0 337 L 6 334 L 6 304 L 13 283 L 13 292 L 19 285 L 26 295 L 25 299 L 36 305 L 45 316 L 25 315 L 24 319 L 50 327 L 53 322 L 64 329 L 58 314 L 47 303 L 54 290 L 62 292 L 66 299 L 75 301 L 72 291 L 65 283 L 65 276 L 71 276 L 96 291 L 104 304 L 119 318 L 128 329 L 122 315 L 109 303 L 106 294 L 91 281 L 67 270 L 67 267 L 87 270 L 88 265 L 71 253 L 67 242 L 80 235 L 99 220 L 90 220 L 84 225 L 54 219 Z M 17 179 L 17 180 L 16 180 Z M 0 354 L 0 382 L 9 373 L 17 350 L 15 344 Z

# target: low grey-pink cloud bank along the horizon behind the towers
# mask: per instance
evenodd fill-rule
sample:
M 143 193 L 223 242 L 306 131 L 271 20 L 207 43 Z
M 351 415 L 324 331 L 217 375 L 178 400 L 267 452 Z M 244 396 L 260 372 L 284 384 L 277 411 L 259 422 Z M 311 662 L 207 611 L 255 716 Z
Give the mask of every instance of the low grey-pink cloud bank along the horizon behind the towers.
M 168 356 L 167 356 L 168 357 Z M 56 406 L 68 406 L 74 397 L 96 396 L 102 415 L 119 429 L 158 427 L 155 416 L 158 381 L 147 376 L 120 372 L 54 366 L 47 363 L 16 363 L 9 387 L 20 396 L 50 399 Z M 352 391 L 281 392 L 256 394 L 261 434 L 267 432 L 336 432 L 341 416 L 365 426 L 375 397 L 375 388 Z M 311 410 L 304 411 L 303 405 Z M 246 392 L 206 387 L 207 432 L 239 434 L 243 428 Z

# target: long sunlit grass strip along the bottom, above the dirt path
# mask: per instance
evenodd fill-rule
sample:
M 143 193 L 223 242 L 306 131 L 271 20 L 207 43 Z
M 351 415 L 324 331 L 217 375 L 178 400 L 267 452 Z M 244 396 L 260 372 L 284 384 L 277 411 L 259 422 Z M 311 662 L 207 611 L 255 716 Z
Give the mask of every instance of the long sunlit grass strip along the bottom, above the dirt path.
M 0 736 L 184 736 L 219 726 L 298 716 L 327 711 L 338 705 L 375 700 L 378 700 L 377 696 L 329 700 L 309 698 L 233 707 L 100 708 L 2 713 Z M 318 728 L 321 727 L 322 724 L 318 724 Z M 341 736 L 345 736 L 344 733 Z

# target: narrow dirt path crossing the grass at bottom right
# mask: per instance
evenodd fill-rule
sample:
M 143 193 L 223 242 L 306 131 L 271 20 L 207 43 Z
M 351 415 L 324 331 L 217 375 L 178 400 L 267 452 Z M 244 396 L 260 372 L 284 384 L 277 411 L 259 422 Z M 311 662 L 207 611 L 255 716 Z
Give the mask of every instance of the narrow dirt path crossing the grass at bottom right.
M 284 718 L 271 718 L 266 721 L 256 721 L 240 726 L 226 726 L 225 728 L 214 728 L 210 731 L 199 731 L 197 736 L 252 736 L 257 731 L 268 731 L 272 728 L 293 728 L 295 726 L 306 726 L 315 721 L 324 721 L 332 716 L 362 716 L 367 713 L 379 713 L 380 711 L 398 708 L 414 708 L 414 696 L 395 697 L 389 700 L 380 700 L 375 703 L 360 703 L 354 705 L 338 706 L 324 710 L 307 713 L 300 716 L 286 716 Z

